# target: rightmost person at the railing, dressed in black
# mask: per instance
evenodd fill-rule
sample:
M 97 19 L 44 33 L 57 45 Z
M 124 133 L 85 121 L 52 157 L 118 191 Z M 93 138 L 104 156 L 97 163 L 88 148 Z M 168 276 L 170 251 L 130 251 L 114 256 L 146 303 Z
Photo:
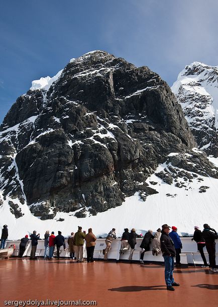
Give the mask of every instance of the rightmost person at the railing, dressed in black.
M 209 266 L 212 272 L 218 273 L 218 269 L 215 264 L 215 239 L 218 239 L 216 231 L 208 224 L 203 224 L 202 236 L 205 240 L 206 250 L 209 256 Z

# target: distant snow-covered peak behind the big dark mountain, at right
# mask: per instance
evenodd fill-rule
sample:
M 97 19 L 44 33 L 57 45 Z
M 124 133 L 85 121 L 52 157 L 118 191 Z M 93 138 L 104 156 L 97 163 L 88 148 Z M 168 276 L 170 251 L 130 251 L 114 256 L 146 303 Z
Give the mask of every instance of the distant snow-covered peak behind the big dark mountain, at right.
M 218 66 L 194 62 L 185 67 L 171 88 L 198 144 L 218 157 Z

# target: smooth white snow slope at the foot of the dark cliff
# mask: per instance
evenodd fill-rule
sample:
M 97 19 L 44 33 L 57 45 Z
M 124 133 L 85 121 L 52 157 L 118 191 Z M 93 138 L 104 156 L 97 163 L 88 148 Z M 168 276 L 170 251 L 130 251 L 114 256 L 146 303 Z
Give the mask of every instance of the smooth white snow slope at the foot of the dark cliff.
M 210 158 L 210 160 L 218 166 L 218 159 Z M 42 238 L 47 229 L 55 233 L 61 230 L 64 236 L 68 236 L 71 231 L 77 230 L 77 226 L 82 226 L 86 230 L 92 227 L 96 235 L 105 234 L 112 227 L 116 228 L 118 235 L 121 235 L 126 227 L 129 229 L 134 227 L 139 233 L 144 233 L 148 229 L 155 231 L 165 223 L 178 227 L 178 232 L 181 234 L 192 234 L 194 225 L 202 229 L 204 223 L 218 229 L 218 179 L 197 175 L 192 182 L 186 183 L 186 188 L 178 188 L 174 182 L 169 185 L 156 176 L 166 167 L 168 167 L 166 163 L 160 164 L 156 172 L 147 179 L 149 184 L 157 183 L 155 189 L 159 193 L 149 195 L 146 201 L 143 201 L 137 192 L 127 197 L 121 206 L 97 213 L 96 216 L 76 218 L 70 213 L 58 212 L 53 220 L 40 220 L 31 214 L 26 202 L 20 205 L 22 212 L 25 213 L 24 216 L 16 219 L 10 212 L 6 199 L 0 207 L 0 216 L 4 216 L 0 226 L 8 224 L 9 239 L 20 239 L 25 234 L 32 233 L 34 229 Z M 183 178 L 180 179 L 182 180 Z M 202 185 L 208 187 L 205 193 L 199 193 Z M 150 186 L 154 187 L 151 184 Z M 18 199 L 16 201 L 19 202 Z M 64 221 L 58 221 L 60 218 Z

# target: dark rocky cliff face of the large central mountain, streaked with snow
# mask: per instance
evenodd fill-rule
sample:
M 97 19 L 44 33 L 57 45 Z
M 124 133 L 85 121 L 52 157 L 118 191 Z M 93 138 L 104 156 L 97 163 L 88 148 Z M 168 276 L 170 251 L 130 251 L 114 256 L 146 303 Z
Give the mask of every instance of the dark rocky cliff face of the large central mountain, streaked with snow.
M 168 85 L 103 51 L 67 64 L 48 91 L 19 97 L 1 131 L 3 197 L 27 201 L 41 219 L 85 217 L 136 191 L 156 193 L 145 180 L 158 164 L 196 144 Z

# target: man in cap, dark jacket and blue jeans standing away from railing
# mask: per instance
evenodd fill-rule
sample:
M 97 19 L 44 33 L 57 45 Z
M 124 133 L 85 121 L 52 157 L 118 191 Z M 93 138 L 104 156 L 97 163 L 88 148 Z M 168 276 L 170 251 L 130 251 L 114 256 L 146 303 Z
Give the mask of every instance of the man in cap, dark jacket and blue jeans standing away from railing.
M 170 226 L 167 224 L 162 225 L 160 244 L 161 251 L 164 257 L 165 265 L 165 281 L 167 285 L 167 290 L 174 291 L 174 286 L 179 286 L 179 283 L 174 281 L 173 269 L 174 269 L 174 257 L 176 255 L 176 250 L 174 247 L 173 240 L 169 236 Z

